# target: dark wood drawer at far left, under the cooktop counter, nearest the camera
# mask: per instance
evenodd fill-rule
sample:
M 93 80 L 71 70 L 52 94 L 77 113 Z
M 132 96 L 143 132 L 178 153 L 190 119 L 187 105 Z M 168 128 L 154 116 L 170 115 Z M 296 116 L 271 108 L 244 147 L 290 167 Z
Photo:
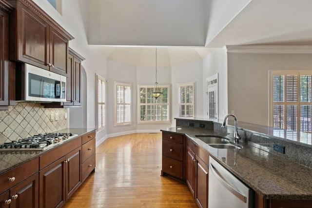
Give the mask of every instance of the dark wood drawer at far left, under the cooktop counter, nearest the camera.
M 39 171 L 39 158 L 31 160 L 21 166 L 18 166 L 6 173 L 0 175 L 0 193 L 17 185 L 21 181 L 30 177 Z M 9 179 L 14 181 L 10 182 Z

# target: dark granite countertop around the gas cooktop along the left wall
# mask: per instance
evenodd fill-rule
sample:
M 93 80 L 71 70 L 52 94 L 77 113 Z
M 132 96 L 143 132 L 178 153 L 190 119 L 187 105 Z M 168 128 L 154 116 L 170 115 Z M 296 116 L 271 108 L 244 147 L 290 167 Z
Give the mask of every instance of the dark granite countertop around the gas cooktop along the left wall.
M 95 130 L 95 128 L 65 128 L 56 132 L 71 132 L 73 134 L 78 134 L 78 136 L 81 136 L 93 130 Z M 63 145 L 75 138 L 77 137 L 73 137 L 70 140 L 65 140 L 59 145 Z M 51 151 L 52 149 L 57 148 L 59 145 L 56 145 L 47 150 L 41 150 L 41 151 L 40 150 L 38 151 L 31 151 L 31 150 L 1 151 L 0 150 L 0 174 L 13 169 L 14 167 L 20 166 L 28 161 L 31 161 L 32 159 L 39 157 L 41 154 L 44 154 L 47 151 Z

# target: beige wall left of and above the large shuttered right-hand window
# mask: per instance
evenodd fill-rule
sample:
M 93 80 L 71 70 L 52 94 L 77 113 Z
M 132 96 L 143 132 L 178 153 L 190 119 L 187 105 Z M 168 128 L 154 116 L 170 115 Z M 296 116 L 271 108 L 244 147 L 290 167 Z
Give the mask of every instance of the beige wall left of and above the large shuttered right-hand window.
M 229 112 L 268 125 L 268 70 L 312 70 L 311 54 L 228 54 Z

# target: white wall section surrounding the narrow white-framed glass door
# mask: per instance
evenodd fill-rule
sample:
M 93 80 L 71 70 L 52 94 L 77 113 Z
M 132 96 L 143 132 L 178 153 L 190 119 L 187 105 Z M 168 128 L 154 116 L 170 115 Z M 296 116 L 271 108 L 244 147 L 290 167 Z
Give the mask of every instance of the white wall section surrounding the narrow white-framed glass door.
M 228 113 L 228 75 L 226 48 L 217 48 L 203 59 L 203 118 L 207 118 L 206 78 L 218 73 L 218 115 L 223 119 Z M 224 112 L 224 113 L 223 113 Z

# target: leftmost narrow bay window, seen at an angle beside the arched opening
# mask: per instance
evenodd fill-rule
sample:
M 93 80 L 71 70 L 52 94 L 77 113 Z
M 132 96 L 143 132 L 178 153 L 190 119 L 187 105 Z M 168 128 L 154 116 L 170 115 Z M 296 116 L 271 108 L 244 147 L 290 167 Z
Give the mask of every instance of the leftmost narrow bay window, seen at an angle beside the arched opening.
M 105 84 L 104 78 L 96 74 L 96 90 L 98 95 L 96 97 L 96 115 L 98 131 L 105 128 Z

